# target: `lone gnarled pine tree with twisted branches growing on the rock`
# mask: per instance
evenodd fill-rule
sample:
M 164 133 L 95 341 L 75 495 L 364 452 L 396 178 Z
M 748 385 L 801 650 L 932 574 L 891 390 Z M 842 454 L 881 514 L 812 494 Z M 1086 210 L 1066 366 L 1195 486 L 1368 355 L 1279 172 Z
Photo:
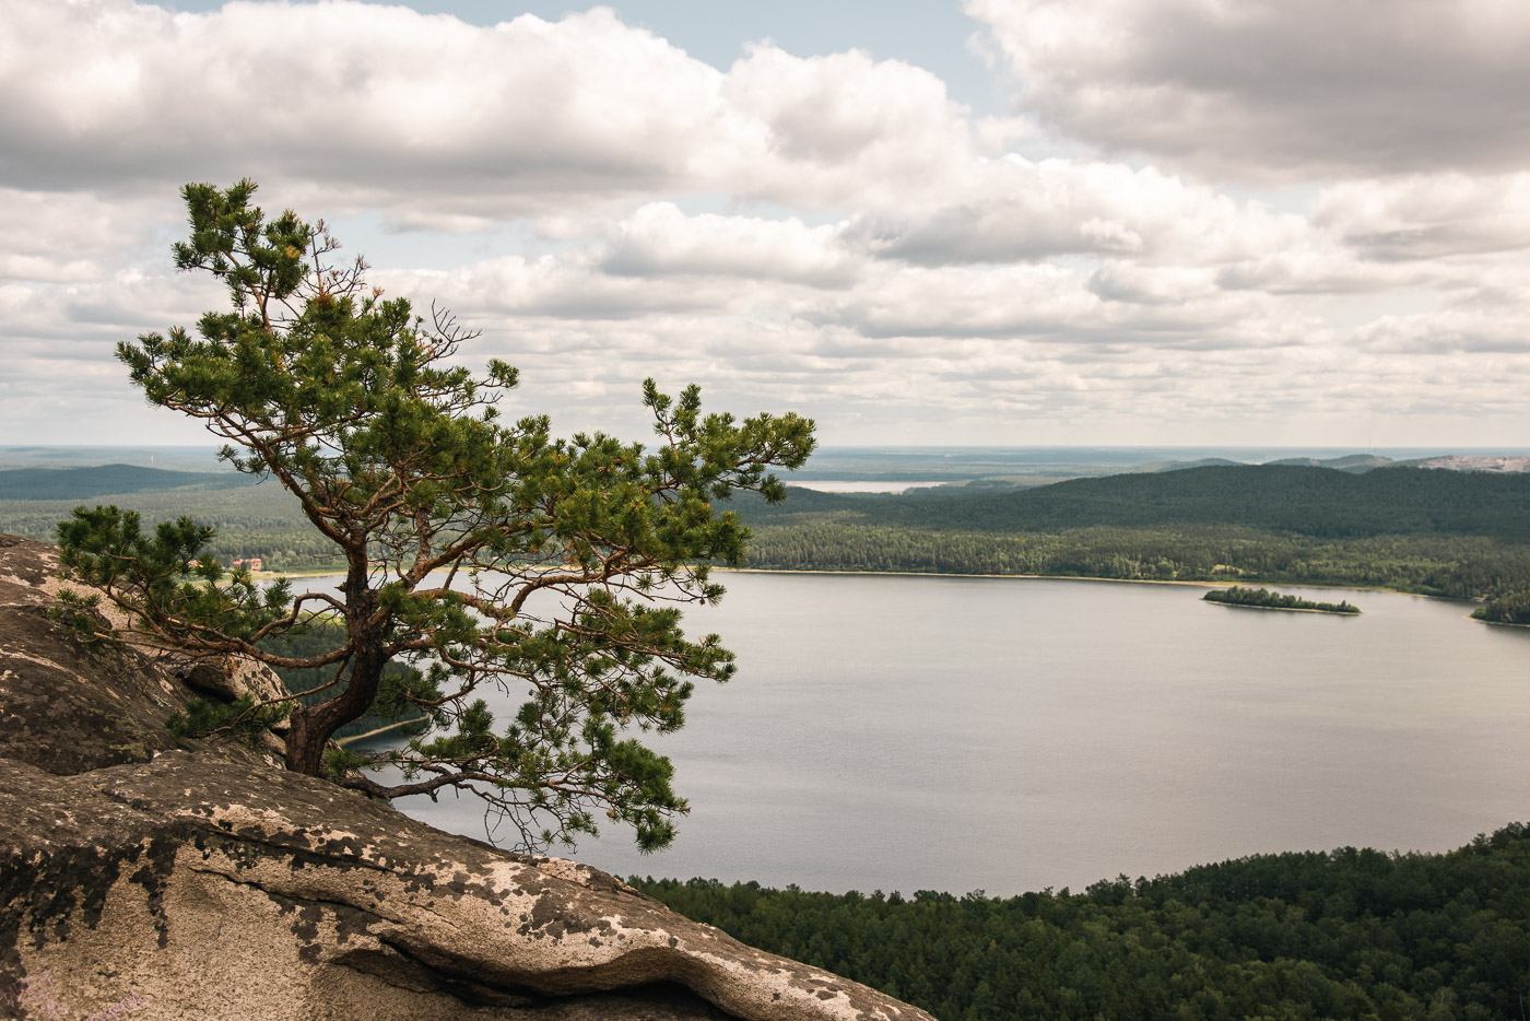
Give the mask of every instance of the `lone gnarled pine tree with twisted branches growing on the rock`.
M 595 833 L 597 813 L 635 827 L 643 848 L 666 845 L 685 802 L 669 759 L 629 729 L 678 729 L 692 678 L 733 675 L 716 635 L 684 635 L 678 605 L 716 600 L 707 565 L 742 562 L 748 530 L 715 504 L 734 490 L 780 501 L 768 471 L 806 459 L 812 422 L 702 415 L 695 386 L 673 400 L 649 380 L 652 450 L 554 439 L 545 416 L 502 424 L 514 369 L 490 361 L 476 378 L 454 364 L 473 334 L 384 300 L 364 262 L 330 260 L 323 222 L 266 219 L 254 191 L 184 188 L 191 237 L 176 265 L 222 279 L 231 308 L 205 314 L 196 335 L 122 343 L 118 358 L 150 403 L 222 436 L 223 459 L 291 491 L 344 557 L 344 583 L 259 588 L 205 556 L 211 528 L 181 519 L 145 533 L 132 511 L 80 508 L 58 527 L 64 566 L 129 618 L 92 626 L 194 657 L 332 670 L 312 706 L 191 713 L 200 729 L 289 713 L 289 770 L 379 798 L 465 788 L 528 850 Z M 343 625 L 343 644 L 303 658 L 265 648 L 315 615 Z M 488 686 L 525 698 L 513 719 L 496 724 Z M 369 710 L 424 715 L 430 729 L 370 756 L 330 741 Z M 364 768 L 378 762 L 401 767 L 398 782 Z

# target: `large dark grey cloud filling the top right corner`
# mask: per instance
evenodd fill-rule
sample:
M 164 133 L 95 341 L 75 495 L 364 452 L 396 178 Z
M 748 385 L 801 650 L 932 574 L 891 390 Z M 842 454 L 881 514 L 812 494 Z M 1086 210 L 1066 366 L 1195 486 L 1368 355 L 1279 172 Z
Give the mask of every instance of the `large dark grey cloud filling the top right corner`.
M 967 0 L 1068 139 L 1250 182 L 1530 159 L 1516 0 Z

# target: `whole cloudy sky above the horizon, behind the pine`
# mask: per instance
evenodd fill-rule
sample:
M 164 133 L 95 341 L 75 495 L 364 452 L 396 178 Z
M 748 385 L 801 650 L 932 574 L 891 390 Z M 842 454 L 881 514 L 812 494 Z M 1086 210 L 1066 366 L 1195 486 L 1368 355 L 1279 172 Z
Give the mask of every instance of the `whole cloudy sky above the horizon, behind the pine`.
M 194 444 L 118 341 L 252 178 L 511 416 L 825 444 L 1530 442 L 1522 0 L 5 0 L 0 444 Z

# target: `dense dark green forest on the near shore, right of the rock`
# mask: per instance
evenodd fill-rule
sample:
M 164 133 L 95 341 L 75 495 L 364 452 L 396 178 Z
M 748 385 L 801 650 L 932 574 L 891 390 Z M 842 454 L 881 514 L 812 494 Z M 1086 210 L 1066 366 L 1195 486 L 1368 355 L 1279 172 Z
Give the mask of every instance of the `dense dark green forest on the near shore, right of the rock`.
M 1447 854 L 1261 854 L 1080 894 L 630 882 L 942 1021 L 1501 1021 L 1530 1000 L 1530 827 L 1519 824 Z

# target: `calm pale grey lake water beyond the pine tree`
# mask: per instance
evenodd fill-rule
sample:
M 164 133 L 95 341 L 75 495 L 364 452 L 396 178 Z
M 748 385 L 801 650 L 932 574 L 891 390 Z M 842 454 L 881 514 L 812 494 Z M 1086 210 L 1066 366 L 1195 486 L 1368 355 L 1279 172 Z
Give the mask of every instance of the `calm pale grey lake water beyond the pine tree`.
M 688 631 L 719 632 L 739 677 L 650 738 L 692 804 L 675 845 L 641 856 L 612 828 L 571 857 L 1008 895 L 1264 851 L 1446 850 L 1530 817 L 1530 629 L 1464 603 L 1281 586 L 1365 611 L 1346 618 L 1174 585 L 724 580 Z M 474 799 L 399 805 L 483 836 Z

